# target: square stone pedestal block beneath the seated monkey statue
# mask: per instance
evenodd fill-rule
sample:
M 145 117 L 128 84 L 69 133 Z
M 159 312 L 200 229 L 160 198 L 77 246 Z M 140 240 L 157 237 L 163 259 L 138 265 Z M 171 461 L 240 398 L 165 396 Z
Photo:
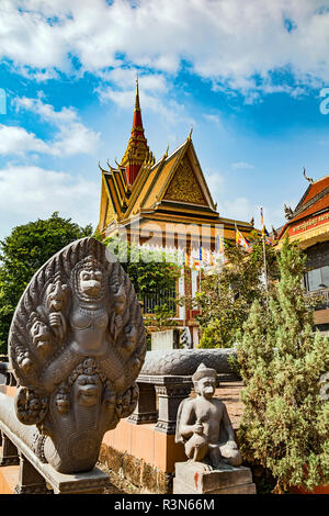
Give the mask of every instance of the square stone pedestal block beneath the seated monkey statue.
M 223 464 L 206 471 L 202 462 L 177 462 L 173 494 L 256 494 L 250 468 Z

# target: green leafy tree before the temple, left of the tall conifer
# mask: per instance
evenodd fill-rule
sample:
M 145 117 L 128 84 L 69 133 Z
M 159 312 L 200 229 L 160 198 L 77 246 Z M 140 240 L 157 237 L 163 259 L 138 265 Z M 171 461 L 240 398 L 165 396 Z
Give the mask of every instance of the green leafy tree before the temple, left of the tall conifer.
M 227 265 L 218 272 L 204 277 L 201 292 L 195 294 L 194 304 L 201 315 L 196 316 L 201 326 L 203 348 L 231 347 L 237 332 L 242 329 L 254 300 L 263 304 L 266 290 L 263 276 L 262 239 L 253 232 L 252 251 L 242 247 L 226 246 Z M 265 246 L 269 291 L 277 279 L 276 253 Z

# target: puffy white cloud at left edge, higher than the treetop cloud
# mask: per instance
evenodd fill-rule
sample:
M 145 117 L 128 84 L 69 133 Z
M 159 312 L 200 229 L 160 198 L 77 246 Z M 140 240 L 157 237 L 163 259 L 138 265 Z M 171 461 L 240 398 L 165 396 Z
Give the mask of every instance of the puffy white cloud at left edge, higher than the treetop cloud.
M 19 126 L 0 124 L 0 155 L 22 155 L 29 152 L 53 156 L 72 156 L 75 154 L 93 154 L 100 139 L 100 133 L 86 127 L 72 108 L 55 111 L 54 106 L 41 99 L 22 97 L 13 101 L 16 110 L 31 111 L 42 121 L 56 127 L 54 139 L 44 142 L 35 134 Z

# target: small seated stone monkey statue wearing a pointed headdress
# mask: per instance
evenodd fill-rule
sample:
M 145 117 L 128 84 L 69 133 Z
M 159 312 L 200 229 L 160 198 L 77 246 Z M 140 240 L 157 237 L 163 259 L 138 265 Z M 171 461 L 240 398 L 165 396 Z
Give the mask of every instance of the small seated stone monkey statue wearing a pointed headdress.
M 216 370 L 201 363 L 192 377 L 196 397 L 182 401 L 178 411 L 175 442 L 183 442 L 190 461 L 214 468 L 226 462 L 240 465 L 241 455 L 225 404 L 214 397 Z

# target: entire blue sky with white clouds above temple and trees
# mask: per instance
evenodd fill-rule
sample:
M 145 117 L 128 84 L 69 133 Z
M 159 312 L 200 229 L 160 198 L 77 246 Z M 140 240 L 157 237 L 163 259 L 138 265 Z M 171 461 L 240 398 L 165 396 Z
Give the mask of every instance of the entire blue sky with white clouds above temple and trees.
M 156 158 L 192 125 L 219 213 L 282 225 L 303 167 L 329 173 L 328 51 L 329 1 L 1 0 L 0 238 L 54 211 L 97 225 L 137 72 Z

